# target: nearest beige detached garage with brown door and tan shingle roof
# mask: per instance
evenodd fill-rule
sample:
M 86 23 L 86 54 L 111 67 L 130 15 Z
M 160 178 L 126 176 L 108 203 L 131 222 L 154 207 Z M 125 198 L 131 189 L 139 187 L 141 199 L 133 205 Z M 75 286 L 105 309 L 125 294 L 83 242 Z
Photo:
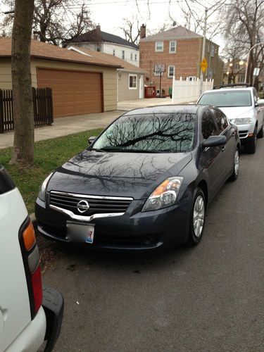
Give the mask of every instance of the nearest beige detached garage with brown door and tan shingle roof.
M 54 118 L 113 111 L 120 65 L 32 40 L 32 87 L 52 89 Z M 11 38 L 0 38 L 0 89 L 11 89 Z

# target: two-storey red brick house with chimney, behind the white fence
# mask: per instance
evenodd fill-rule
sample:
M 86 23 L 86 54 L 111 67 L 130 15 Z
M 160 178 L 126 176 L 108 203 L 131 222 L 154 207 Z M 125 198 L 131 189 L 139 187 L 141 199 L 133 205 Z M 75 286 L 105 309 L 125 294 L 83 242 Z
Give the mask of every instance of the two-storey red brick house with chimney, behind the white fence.
M 139 66 L 146 70 L 146 84 L 159 88 L 160 74 L 154 73 L 156 63 L 165 64 L 161 79 L 161 90 L 168 96 L 172 78 L 194 80 L 200 77 L 203 37 L 182 26 L 146 37 L 146 26 L 140 29 Z M 208 68 L 204 79 L 212 78 L 214 84 L 222 84 L 223 61 L 218 55 L 219 46 L 206 39 Z

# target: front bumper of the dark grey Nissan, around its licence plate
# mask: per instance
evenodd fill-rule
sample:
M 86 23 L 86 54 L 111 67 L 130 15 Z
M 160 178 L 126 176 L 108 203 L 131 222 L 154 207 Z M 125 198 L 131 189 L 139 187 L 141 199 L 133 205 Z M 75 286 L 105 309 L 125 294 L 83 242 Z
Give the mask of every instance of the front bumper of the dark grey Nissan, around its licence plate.
M 142 213 L 142 201 L 132 201 L 121 216 L 96 218 L 94 243 L 82 243 L 89 249 L 110 249 L 120 251 L 145 251 L 160 249 L 183 243 L 189 232 L 188 199 L 175 206 Z M 38 230 L 44 237 L 55 241 L 73 244 L 66 239 L 66 214 L 45 206 L 37 199 L 35 215 Z M 87 222 L 88 223 L 88 222 Z

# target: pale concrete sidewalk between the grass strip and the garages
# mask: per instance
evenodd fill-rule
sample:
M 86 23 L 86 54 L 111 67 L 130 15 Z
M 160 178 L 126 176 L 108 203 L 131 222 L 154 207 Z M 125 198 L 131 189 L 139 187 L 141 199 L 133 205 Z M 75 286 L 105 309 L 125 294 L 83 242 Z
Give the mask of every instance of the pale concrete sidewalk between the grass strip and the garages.
M 118 103 L 118 110 L 107 111 L 106 113 L 92 113 L 89 115 L 68 116 L 65 118 L 55 118 L 50 126 L 37 127 L 34 130 L 34 140 L 42 141 L 61 136 L 67 136 L 82 131 L 95 130 L 109 125 L 115 118 L 122 115 L 125 111 L 134 108 L 144 108 L 145 106 L 171 104 L 170 98 L 152 98 L 127 100 Z M 13 132 L 0 134 L 0 149 L 13 146 Z

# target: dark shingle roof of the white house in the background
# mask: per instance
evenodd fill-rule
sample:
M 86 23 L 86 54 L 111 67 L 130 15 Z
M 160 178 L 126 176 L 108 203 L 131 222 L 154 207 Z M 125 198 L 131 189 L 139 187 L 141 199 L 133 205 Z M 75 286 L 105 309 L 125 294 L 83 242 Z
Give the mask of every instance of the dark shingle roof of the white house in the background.
M 100 35 L 101 33 L 101 35 Z M 121 37 L 118 37 L 117 35 L 98 31 L 98 30 L 91 30 L 87 33 L 80 34 L 79 37 L 75 38 L 72 43 L 80 43 L 80 42 L 108 42 L 108 43 L 115 43 L 115 44 L 120 44 L 124 46 L 130 46 L 134 49 L 139 49 L 139 47 L 136 44 L 133 44 L 131 42 L 128 42 L 125 39 L 122 39 Z

